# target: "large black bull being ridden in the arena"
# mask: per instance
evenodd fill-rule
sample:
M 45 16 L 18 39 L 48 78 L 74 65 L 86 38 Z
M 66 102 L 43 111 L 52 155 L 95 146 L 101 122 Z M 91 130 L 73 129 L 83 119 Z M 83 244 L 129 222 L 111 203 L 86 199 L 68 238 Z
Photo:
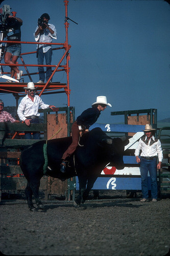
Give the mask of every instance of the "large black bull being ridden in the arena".
M 38 191 L 40 179 L 44 175 L 44 152 L 45 140 L 34 143 L 21 152 L 20 167 L 28 183 L 25 189 L 28 206 L 30 210 L 36 210 L 32 202 L 32 195 L 35 197 L 38 208 L 43 209 Z M 47 159 L 50 168 L 46 168 L 46 175 L 61 180 L 78 176 L 79 196 L 74 206 L 79 206 L 87 199 L 90 189 L 104 167 L 110 162 L 117 169 L 124 168 L 123 154 L 124 146 L 129 140 L 123 138 L 111 139 L 99 127 L 82 136 L 75 156 L 70 157 L 65 174 L 60 172 L 61 157 L 69 144 L 71 137 L 53 139 L 47 141 Z M 75 165 L 74 165 L 75 163 Z M 76 172 L 75 172 L 76 169 Z

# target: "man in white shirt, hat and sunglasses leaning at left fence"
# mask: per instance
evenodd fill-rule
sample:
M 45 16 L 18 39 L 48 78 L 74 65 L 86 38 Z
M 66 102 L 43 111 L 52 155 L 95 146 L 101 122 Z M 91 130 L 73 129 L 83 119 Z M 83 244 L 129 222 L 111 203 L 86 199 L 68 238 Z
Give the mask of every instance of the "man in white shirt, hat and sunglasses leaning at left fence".
M 39 123 L 39 106 L 43 110 L 56 108 L 54 105 L 45 104 L 38 95 L 35 95 L 37 88 L 35 88 L 33 82 L 29 82 L 27 87 L 23 87 L 23 89 L 27 90 L 27 95 L 22 98 L 18 105 L 17 114 L 20 120 L 24 121 L 27 125 L 30 125 L 30 123 Z M 31 133 L 30 131 L 25 132 L 25 139 L 31 139 Z M 40 139 L 40 132 L 33 132 L 33 138 Z

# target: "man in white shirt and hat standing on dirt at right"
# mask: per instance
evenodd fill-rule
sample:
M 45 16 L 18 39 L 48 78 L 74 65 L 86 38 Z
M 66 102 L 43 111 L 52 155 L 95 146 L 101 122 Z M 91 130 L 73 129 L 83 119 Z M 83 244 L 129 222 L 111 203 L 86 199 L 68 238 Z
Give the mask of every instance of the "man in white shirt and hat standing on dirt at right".
M 156 129 L 151 124 L 145 125 L 144 135 L 140 138 L 135 150 L 136 162 L 140 163 L 142 199 L 140 202 L 148 201 L 148 171 L 151 177 L 151 196 L 152 202 L 157 202 L 157 169 L 160 169 L 163 153 L 161 142 L 155 138 Z M 141 150 L 140 158 L 139 153 Z M 158 164 L 157 164 L 158 157 Z

